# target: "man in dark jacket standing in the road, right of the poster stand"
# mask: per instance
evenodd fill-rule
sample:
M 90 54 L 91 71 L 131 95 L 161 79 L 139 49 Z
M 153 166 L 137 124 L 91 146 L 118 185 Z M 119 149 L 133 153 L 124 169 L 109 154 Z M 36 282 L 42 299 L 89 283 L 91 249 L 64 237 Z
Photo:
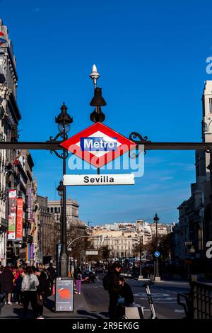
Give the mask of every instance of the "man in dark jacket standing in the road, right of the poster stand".
M 108 312 L 111 320 L 116 320 L 118 318 L 117 305 L 119 291 L 121 289 L 121 286 L 119 285 L 119 275 L 121 271 L 122 266 L 119 263 L 114 263 L 107 273 L 107 285 L 110 298 Z

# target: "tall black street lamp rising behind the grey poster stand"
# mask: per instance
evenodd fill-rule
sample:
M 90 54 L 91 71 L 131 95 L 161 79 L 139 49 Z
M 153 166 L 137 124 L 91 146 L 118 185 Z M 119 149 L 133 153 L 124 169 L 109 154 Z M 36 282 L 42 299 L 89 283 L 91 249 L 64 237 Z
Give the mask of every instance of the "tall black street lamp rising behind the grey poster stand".
M 50 141 L 56 141 L 58 137 L 61 137 L 63 141 L 68 139 L 67 132 L 70 130 L 70 124 L 73 122 L 73 118 L 67 113 L 67 107 L 65 103 L 61 106 L 61 113 L 55 118 L 55 122 L 58 124 L 59 133 L 56 137 L 50 137 Z M 63 175 L 66 174 L 66 158 L 68 152 L 63 149 L 63 152 L 59 154 L 56 150 L 53 150 L 57 157 L 63 159 Z M 59 272 L 61 277 L 68 276 L 68 255 L 67 255 L 67 235 L 66 235 L 66 186 L 60 181 L 59 195 L 62 197 L 62 209 L 61 209 L 61 252 L 59 256 Z

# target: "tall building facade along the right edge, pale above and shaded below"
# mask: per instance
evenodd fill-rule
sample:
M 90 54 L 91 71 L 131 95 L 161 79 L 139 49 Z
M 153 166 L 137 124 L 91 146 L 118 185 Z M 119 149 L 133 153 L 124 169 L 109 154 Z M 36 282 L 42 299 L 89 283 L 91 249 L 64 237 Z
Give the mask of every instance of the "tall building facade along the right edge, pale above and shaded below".
M 212 81 L 205 82 L 202 111 L 202 142 L 212 142 Z M 196 182 L 191 184 L 190 198 L 178 207 L 179 223 L 173 230 L 175 260 L 191 259 L 196 271 L 206 271 L 206 242 L 212 237 L 210 157 L 208 152 L 196 150 Z

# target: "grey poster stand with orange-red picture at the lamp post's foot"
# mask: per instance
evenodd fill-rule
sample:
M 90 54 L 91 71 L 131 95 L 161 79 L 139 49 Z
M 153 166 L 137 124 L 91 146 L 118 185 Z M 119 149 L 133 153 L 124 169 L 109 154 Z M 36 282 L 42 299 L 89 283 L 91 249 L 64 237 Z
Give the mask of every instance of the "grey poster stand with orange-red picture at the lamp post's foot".
M 73 279 L 56 279 L 55 311 L 73 312 Z

